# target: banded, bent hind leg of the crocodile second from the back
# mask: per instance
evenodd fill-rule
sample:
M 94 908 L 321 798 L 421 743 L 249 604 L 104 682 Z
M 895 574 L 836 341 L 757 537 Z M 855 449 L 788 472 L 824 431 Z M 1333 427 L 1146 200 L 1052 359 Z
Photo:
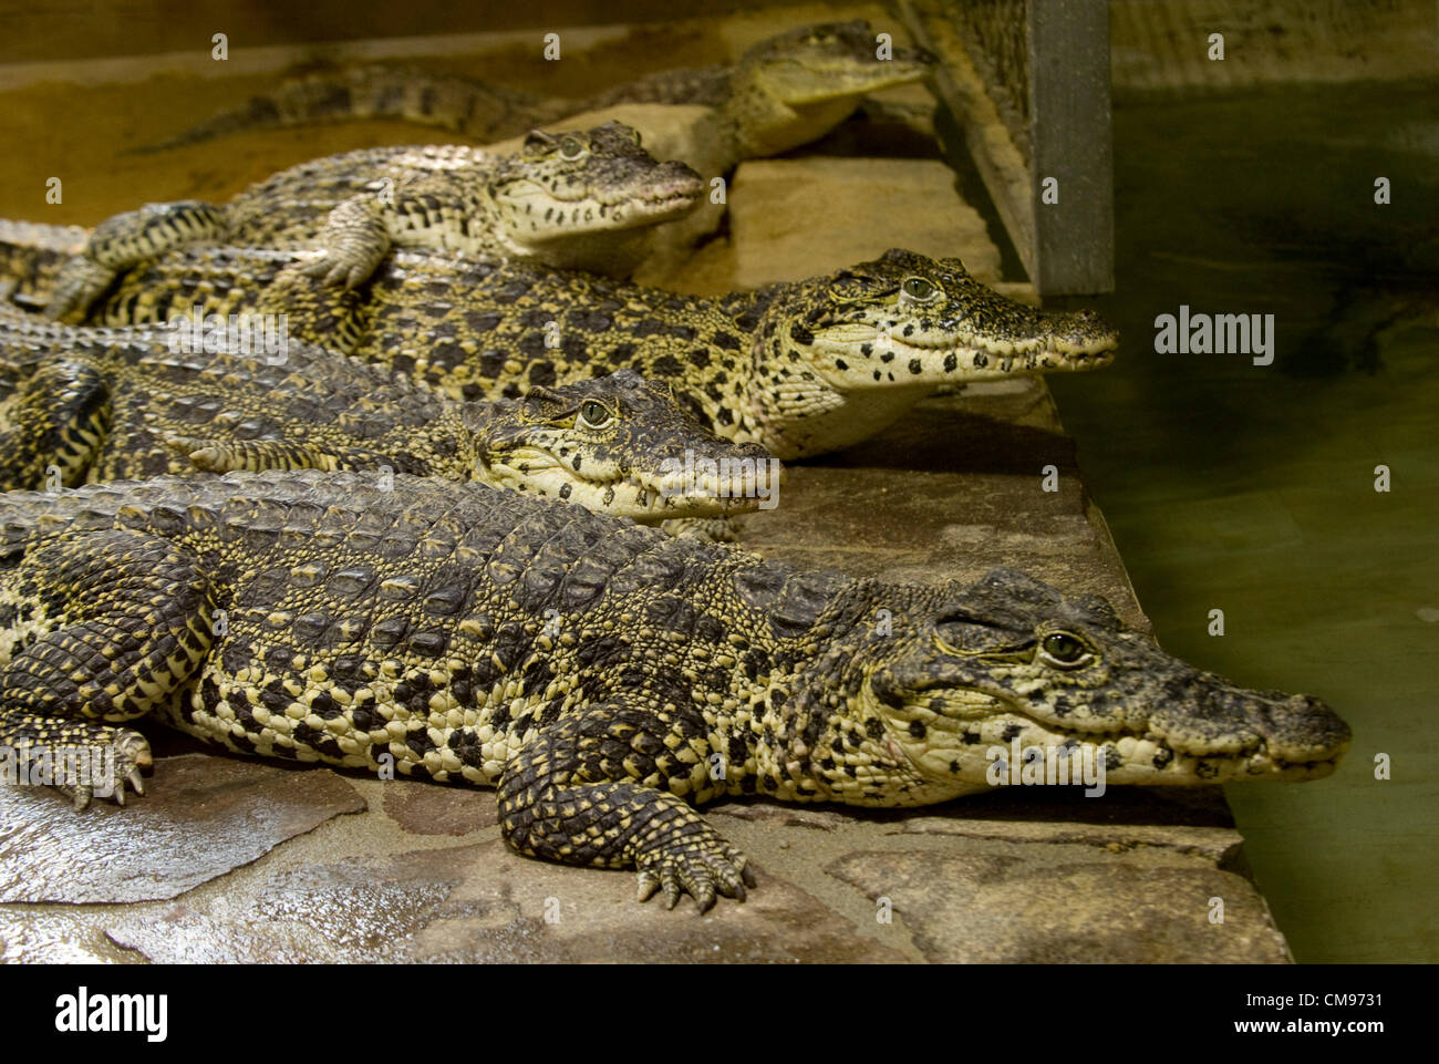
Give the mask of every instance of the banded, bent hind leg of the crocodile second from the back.
M 60 266 L 45 314 L 82 321 L 122 271 L 191 243 L 223 243 L 227 232 L 224 207 L 203 200 L 147 203 L 115 215 L 95 226 L 85 251 Z

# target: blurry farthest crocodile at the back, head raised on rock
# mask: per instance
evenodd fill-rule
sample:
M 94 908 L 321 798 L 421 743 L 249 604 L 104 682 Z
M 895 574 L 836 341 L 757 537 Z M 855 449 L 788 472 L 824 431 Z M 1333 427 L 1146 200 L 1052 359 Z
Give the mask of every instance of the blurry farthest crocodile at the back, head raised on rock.
M 440 125 L 509 151 L 518 147 L 512 138 L 537 125 L 567 130 L 619 120 L 640 130 L 655 155 L 688 163 L 715 183 L 744 160 L 823 137 L 868 94 L 917 82 L 932 63 L 922 49 L 881 42 L 869 23 L 848 22 L 780 33 L 732 66 L 652 73 L 584 99 L 544 99 L 449 75 L 370 66 L 288 82 L 275 99 L 222 115 L 197 138 L 252 122 L 384 117 Z M 705 197 L 682 219 L 632 233 L 600 272 L 663 284 L 721 227 L 724 213 L 724 197 Z

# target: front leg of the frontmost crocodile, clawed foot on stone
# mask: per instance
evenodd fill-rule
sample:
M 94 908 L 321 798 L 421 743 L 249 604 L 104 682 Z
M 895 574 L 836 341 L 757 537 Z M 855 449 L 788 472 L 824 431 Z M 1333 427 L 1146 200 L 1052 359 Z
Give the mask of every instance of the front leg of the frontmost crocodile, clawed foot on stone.
M 682 756 L 682 736 L 673 714 L 625 705 L 590 705 L 544 729 L 499 782 L 505 841 L 560 864 L 637 868 L 640 901 L 656 891 L 669 909 L 682 893 L 699 911 L 717 893 L 744 901 L 754 885 L 744 854 L 662 789 L 688 789 L 705 770 L 698 754 Z

